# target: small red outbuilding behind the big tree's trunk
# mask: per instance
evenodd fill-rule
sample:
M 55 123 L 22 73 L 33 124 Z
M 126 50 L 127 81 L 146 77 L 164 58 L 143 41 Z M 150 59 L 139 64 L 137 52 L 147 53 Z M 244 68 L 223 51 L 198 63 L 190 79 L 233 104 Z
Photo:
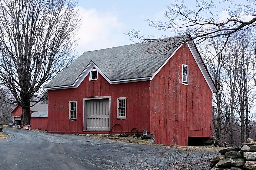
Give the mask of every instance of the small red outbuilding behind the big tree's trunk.
M 34 105 L 34 103 L 31 103 Z M 34 129 L 47 130 L 47 112 L 48 104 L 37 103 L 30 107 L 30 126 Z M 13 110 L 13 123 L 21 123 L 22 107 L 17 105 Z

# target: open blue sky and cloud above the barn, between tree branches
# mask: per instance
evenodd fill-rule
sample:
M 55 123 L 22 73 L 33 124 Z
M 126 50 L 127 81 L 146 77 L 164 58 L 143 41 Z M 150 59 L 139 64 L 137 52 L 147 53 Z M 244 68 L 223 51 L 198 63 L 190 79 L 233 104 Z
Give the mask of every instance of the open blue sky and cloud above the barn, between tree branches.
M 193 7 L 195 1 L 184 0 L 185 5 Z M 213 0 L 218 5 L 218 0 Z M 240 3 L 243 0 L 233 0 Z M 158 21 L 165 19 L 166 6 L 171 6 L 174 0 L 78 0 L 78 8 L 82 17 L 81 27 L 78 31 L 78 46 L 76 51 L 80 56 L 85 51 L 117 47 L 133 43 L 125 35 L 128 30 L 141 30 L 144 35 L 156 34 L 158 36 L 170 33 L 152 29 L 146 24 L 146 19 Z M 218 7 L 219 8 L 219 7 Z M 221 11 L 221 6 L 218 10 Z M 221 18 L 227 18 L 219 13 Z

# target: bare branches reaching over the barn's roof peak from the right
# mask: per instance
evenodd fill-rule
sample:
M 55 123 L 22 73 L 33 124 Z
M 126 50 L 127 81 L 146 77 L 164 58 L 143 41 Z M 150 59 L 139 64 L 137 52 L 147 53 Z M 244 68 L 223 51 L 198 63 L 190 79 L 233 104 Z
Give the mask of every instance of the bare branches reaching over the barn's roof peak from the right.
M 181 35 L 180 43 L 194 40 L 197 44 L 214 37 L 225 36 L 226 39 L 222 43 L 223 48 L 232 34 L 239 30 L 246 34 L 248 30 L 256 26 L 256 0 L 243 0 L 239 4 L 235 4 L 231 0 L 220 0 L 219 6 L 214 2 L 212 0 L 196 0 L 196 6 L 190 8 L 185 5 L 184 1 L 179 2 L 177 0 L 173 5 L 167 6 L 164 20 L 147 19 L 146 21 L 152 28 L 167 31 L 168 34 Z M 222 6 L 224 8 L 219 10 L 219 7 Z M 227 18 L 221 18 L 221 13 L 225 14 Z M 244 18 L 251 19 L 245 20 Z M 188 34 L 191 37 L 186 36 Z M 155 40 L 173 43 L 171 42 L 172 39 L 163 39 L 168 35 L 145 37 L 141 35 L 140 30 L 130 30 L 126 35 L 134 41 Z M 169 46 L 161 48 L 161 50 L 169 49 Z

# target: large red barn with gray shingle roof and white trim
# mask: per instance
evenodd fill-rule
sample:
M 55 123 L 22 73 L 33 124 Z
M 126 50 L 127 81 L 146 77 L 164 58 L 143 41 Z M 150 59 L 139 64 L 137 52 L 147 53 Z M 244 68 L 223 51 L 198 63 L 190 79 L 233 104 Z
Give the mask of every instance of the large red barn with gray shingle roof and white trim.
M 194 43 L 153 53 L 158 47 L 161 43 L 148 42 L 83 53 L 44 87 L 48 132 L 110 133 L 115 126 L 112 133 L 131 133 L 136 128 L 168 145 L 211 137 L 216 88 Z

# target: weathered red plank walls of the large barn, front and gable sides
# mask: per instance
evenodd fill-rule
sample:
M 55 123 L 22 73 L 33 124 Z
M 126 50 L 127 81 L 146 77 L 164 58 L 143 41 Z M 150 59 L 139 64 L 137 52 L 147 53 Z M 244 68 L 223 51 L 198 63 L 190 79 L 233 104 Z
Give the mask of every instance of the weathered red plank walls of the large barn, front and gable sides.
M 181 83 L 182 64 L 189 66 L 189 85 Z M 111 123 L 120 123 L 123 133 L 132 128 L 149 130 L 156 143 L 187 145 L 188 136 L 210 137 L 212 134 L 212 92 L 187 45 L 184 44 L 151 81 L 110 85 L 98 73 L 89 75 L 77 88 L 48 91 L 48 132 L 83 132 L 83 99 L 111 96 Z M 118 120 L 117 98 L 127 98 L 127 118 Z M 77 101 L 77 120 L 69 121 L 69 101 Z M 114 133 L 120 131 L 119 126 Z

